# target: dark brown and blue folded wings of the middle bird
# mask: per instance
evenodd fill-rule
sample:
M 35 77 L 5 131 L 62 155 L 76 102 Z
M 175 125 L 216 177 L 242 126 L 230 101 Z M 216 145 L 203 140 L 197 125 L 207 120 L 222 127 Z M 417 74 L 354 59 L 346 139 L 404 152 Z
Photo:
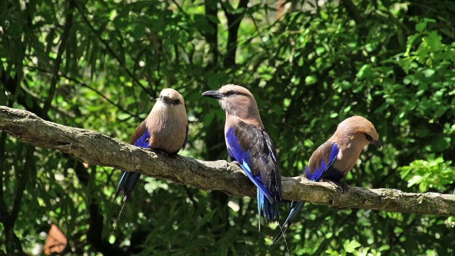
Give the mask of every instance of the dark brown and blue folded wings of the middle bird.
M 230 159 L 237 161 L 248 178 L 270 203 L 281 201 L 282 182 L 277 151 L 264 129 L 239 122 L 225 134 Z

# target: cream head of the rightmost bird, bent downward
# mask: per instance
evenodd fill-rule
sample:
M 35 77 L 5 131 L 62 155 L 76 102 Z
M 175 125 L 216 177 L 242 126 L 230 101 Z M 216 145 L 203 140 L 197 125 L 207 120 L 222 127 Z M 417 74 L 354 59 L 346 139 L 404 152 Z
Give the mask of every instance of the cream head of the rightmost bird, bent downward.
M 359 148 L 363 148 L 367 144 L 373 144 L 378 148 L 382 147 L 375 126 L 368 119 L 360 116 L 349 117 L 338 124 L 332 138 L 342 148 L 349 147 L 350 144 L 355 144 Z

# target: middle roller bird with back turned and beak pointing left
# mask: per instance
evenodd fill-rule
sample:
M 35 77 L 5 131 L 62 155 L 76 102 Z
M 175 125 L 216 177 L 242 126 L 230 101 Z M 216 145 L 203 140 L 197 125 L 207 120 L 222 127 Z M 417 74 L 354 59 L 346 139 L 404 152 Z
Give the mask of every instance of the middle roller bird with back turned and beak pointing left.
M 257 210 L 266 223 L 279 220 L 278 203 L 282 200 L 282 179 L 277 150 L 265 132 L 255 97 L 239 85 L 202 94 L 220 102 L 226 112 L 225 141 L 231 161 L 237 161 L 257 186 Z

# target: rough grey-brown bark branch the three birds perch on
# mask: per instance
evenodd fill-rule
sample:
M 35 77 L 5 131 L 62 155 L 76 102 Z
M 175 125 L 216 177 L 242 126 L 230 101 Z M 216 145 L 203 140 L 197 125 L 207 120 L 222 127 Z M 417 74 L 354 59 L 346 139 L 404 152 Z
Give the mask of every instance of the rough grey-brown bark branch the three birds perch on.
M 205 191 L 224 191 L 231 196 L 256 195 L 255 186 L 242 170 L 227 161 L 201 161 L 167 156 L 119 142 L 87 129 L 45 121 L 31 112 L 0 106 L 0 130 L 23 142 L 58 149 L 80 161 L 137 171 L 154 178 L 196 186 Z M 362 208 L 401 213 L 455 215 L 455 196 L 440 193 L 405 193 L 395 189 L 350 187 L 340 194 L 330 183 L 306 178 L 282 178 L 287 200 L 322 203 L 338 208 Z

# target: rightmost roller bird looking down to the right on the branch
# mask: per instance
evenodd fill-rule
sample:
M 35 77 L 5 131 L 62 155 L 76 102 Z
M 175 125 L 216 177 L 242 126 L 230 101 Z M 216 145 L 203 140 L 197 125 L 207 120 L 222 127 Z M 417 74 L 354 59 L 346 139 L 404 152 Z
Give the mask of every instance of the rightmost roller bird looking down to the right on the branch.
M 345 192 L 348 189 L 346 183 L 338 182 L 353 169 L 360 152 L 368 144 L 382 147 L 374 125 L 365 117 L 349 117 L 338 124 L 335 134 L 314 151 L 303 176 L 310 181 L 331 182 Z M 291 202 L 291 211 L 283 227 L 289 228 L 303 206 L 304 202 Z

